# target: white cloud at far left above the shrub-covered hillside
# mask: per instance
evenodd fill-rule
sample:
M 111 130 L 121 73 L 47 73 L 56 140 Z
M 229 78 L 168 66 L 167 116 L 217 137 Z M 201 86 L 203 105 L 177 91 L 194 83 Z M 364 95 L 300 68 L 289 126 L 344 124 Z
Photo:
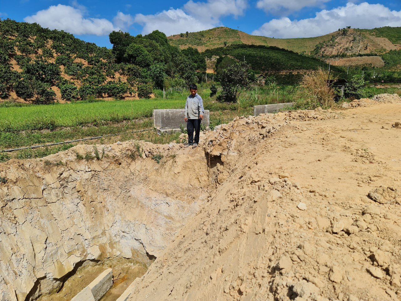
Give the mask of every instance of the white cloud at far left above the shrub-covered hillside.
M 75 35 L 108 35 L 111 31 L 128 28 L 133 18 L 130 15 L 118 12 L 114 17 L 113 22 L 104 18 L 85 18 L 82 6 L 79 6 L 76 1 L 74 5 L 80 7 L 59 4 L 50 6 L 47 9 L 40 10 L 32 16 L 24 18 L 25 22 L 36 22 L 43 27 L 50 29 L 59 29 L 67 31 Z

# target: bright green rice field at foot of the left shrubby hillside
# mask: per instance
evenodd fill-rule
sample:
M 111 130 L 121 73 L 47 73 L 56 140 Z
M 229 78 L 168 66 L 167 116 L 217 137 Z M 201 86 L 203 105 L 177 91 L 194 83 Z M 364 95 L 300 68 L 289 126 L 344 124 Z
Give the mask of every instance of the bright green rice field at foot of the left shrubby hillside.
M 73 102 L 0 107 L 0 131 L 43 130 L 120 122 L 152 116 L 154 109 L 183 108 L 185 98 Z

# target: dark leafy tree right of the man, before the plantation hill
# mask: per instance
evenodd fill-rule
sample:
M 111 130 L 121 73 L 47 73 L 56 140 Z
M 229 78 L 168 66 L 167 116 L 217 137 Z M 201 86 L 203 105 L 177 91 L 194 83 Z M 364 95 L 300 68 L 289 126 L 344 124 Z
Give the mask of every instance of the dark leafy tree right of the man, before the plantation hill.
M 220 83 L 223 88 L 221 97 L 226 102 L 235 102 L 241 87 L 249 85 L 249 65 L 244 62 L 235 63 L 221 72 Z

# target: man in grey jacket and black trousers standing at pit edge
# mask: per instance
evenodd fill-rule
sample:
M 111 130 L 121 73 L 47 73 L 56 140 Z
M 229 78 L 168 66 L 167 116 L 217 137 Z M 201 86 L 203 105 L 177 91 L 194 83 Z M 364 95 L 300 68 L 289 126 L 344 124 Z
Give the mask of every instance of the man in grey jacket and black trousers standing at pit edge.
M 193 145 L 198 146 L 199 143 L 199 133 L 201 132 L 201 120 L 205 114 L 205 109 L 203 108 L 203 100 L 196 91 L 198 87 L 195 84 L 190 84 L 189 92 L 190 95 L 186 98 L 185 103 L 185 122 L 186 130 L 188 131 L 188 144 L 185 147 Z M 195 138 L 194 138 L 195 130 Z

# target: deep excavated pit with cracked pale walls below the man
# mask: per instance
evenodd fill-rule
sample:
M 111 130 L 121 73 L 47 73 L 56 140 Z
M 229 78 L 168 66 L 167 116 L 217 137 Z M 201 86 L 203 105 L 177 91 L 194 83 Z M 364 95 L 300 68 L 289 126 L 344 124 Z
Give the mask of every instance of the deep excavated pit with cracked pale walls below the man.
M 209 195 L 200 149 L 196 158 L 178 144 L 96 149 L 0 165 L 0 300 L 69 301 L 111 267 L 102 301 L 114 301 Z

